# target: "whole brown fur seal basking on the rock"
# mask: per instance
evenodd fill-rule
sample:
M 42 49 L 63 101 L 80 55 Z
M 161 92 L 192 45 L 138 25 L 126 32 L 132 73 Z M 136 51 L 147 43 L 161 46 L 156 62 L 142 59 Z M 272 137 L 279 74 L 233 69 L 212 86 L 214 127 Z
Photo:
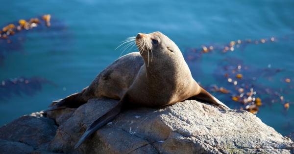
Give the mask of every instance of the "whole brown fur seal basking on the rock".
M 160 32 L 139 33 L 130 40 L 135 41 L 139 52 L 119 58 L 99 73 L 89 87 L 54 102 L 46 110 L 77 108 L 98 97 L 120 100 L 87 128 L 74 148 L 114 119 L 127 105 L 164 107 L 196 99 L 228 108 L 197 84 L 180 49 L 167 36 Z

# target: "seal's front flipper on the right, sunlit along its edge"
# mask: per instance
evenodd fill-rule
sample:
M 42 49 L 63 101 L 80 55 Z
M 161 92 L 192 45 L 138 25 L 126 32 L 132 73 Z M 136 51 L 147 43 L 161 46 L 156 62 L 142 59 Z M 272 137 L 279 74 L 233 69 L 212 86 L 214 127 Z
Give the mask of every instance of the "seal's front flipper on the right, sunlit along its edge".
M 196 99 L 196 100 L 201 100 L 201 101 L 205 101 L 207 103 L 211 103 L 211 104 L 215 104 L 217 106 L 221 105 L 227 109 L 230 109 L 229 107 L 227 107 L 225 104 L 223 104 L 221 101 L 219 101 L 217 98 L 215 98 L 212 94 L 210 94 L 209 92 L 207 92 L 205 89 L 203 89 L 202 87 L 200 87 L 200 93 L 189 98 L 189 99 Z

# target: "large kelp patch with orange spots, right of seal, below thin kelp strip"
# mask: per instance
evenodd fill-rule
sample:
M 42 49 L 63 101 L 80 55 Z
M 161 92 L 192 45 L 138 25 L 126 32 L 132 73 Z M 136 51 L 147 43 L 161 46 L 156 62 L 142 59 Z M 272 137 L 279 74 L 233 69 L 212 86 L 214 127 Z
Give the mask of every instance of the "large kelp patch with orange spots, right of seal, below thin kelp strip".
M 284 89 L 270 88 L 257 82 L 258 78 L 271 78 L 282 71 L 282 69 L 276 68 L 254 68 L 244 65 L 241 60 L 236 58 L 227 58 L 221 61 L 214 71 L 213 75 L 218 85 L 208 85 L 205 88 L 210 92 L 225 94 L 225 97 L 218 95 L 222 101 L 231 102 L 235 108 L 248 110 L 254 114 L 264 104 L 281 103 L 285 109 L 288 109 L 292 102 L 285 100 L 283 96 L 286 91 L 289 91 L 287 87 Z M 289 78 L 285 80 L 287 79 Z M 291 79 L 289 80 L 291 81 Z M 238 102 L 238 104 L 234 102 Z

